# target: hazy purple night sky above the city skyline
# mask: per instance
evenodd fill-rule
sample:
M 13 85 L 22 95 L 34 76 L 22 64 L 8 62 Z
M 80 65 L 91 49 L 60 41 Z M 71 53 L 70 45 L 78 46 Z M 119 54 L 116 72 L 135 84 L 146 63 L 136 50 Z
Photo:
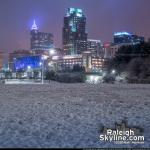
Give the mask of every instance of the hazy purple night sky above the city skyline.
M 116 31 L 150 37 L 150 0 L 0 0 L 0 51 L 29 49 L 34 19 L 61 48 L 68 7 L 83 9 L 89 38 L 109 42 Z

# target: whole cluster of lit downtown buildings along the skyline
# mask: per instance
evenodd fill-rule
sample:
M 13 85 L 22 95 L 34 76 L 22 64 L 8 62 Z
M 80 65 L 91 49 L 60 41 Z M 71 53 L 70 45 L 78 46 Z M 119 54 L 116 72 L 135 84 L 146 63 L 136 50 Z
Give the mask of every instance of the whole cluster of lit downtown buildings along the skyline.
M 113 42 L 103 44 L 100 40 L 88 37 L 86 19 L 82 9 L 68 8 L 62 29 L 62 49 L 54 46 L 53 34 L 40 32 L 34 21 L 30 31 L 31 49 L 10 53 L 9 70 L 38 71 L 40 76 L 43 67 L 45 70 L 63 71 L 79 65 L 84 67 L 86 72 L 99 72 L 105 69 L 107 61 L 115 56 L 121 46 L 144 42 L 143 37 L 117 32 L 114 33 Z M 2 53 L 0 67 L 1 59 Z

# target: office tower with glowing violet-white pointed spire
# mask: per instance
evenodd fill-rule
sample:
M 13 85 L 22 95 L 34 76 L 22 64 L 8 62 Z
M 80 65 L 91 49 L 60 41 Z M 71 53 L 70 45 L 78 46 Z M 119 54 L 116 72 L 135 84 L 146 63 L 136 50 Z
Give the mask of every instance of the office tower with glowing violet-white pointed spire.
M 31 28 L 31 50 L 47 51 L 53 48 L 53 35 L 51 33 L 39 32 L 35 21 Z

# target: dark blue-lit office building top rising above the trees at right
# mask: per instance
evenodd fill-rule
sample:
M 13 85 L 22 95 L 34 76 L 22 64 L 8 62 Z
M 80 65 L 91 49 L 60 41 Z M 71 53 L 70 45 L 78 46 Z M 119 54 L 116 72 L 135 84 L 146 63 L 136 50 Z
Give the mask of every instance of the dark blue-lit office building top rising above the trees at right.
M 144 42 L 144 37 L 140 37 L 128 32 L 116 32 L 114 33 L 114 44 L 139 44 Z

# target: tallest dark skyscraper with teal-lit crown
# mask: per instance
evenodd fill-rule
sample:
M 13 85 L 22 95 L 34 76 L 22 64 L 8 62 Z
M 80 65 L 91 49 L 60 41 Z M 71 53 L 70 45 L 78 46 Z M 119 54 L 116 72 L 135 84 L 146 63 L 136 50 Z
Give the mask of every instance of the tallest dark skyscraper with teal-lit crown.
M 81 54 L 87 50 L 86 17 L 81 9 L 68 8 L 62 38 L 66 55 Z

